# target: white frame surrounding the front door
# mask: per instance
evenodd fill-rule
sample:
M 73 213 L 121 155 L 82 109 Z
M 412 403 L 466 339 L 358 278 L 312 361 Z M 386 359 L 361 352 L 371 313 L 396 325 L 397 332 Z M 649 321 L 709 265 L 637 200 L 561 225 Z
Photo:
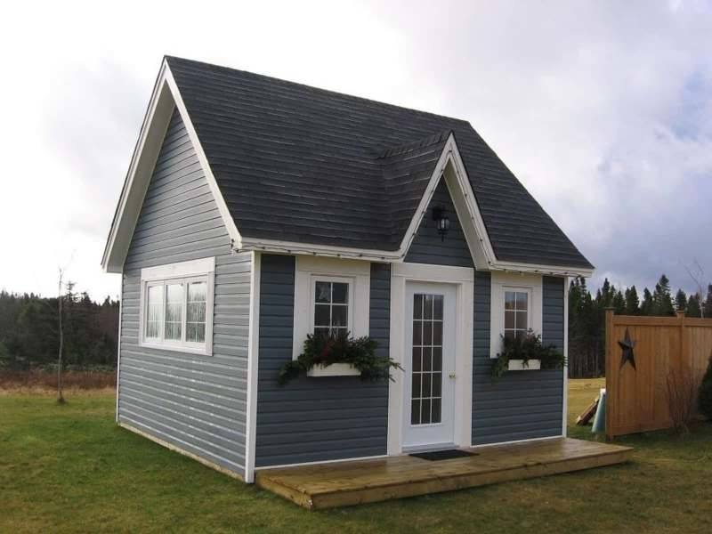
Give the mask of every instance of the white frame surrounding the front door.
M 390 355 L 403 366 L 406 358 L 406 282 L 453 284 L 456 287 L 455 340 L 455 444 L 472 446 L 473 425 L 473 291 L 474 270 L 469 267 L 393 263 L 391 267 Z M 405 373 L 392 372 L 395 381 L 388 387 L 388 454 L 403 453 L 403 387 Z

